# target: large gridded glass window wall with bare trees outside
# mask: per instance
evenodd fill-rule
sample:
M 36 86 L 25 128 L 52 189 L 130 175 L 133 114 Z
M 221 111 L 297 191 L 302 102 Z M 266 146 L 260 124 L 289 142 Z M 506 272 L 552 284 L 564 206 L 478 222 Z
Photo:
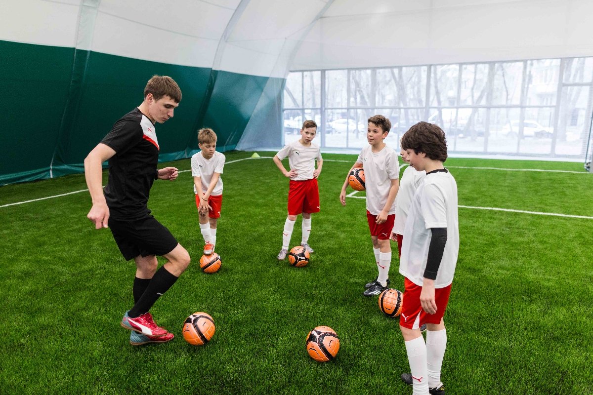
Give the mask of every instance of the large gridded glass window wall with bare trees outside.
M 359 149 L 366 120 L 391 120 L 398 147 L 410 126 L 436 123 L 449 152 L 584 158 L 593 57 L 290 73 L 285 142 L 317 121 L 322 147 Z

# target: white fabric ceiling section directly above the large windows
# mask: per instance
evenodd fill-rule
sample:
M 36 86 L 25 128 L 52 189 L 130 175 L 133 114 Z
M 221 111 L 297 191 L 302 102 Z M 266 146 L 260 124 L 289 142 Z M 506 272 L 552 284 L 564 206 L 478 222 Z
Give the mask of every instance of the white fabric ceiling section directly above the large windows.
M 589 0 L 337 0 L 290 69 L 591 56 Z

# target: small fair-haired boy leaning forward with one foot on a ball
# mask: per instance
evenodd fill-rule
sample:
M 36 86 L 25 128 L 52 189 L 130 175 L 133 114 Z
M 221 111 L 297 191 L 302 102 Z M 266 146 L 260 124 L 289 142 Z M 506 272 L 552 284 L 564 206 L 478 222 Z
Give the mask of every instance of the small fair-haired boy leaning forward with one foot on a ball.
M 200 152 L 192 156 L 193 193 L 204 238 L 204 253 L 210 255 L 216 246 L 216 224 L 222 208 L 222 169 L 225 156 L 216 152 L 216 133 L 212 129 L 197 132 Z

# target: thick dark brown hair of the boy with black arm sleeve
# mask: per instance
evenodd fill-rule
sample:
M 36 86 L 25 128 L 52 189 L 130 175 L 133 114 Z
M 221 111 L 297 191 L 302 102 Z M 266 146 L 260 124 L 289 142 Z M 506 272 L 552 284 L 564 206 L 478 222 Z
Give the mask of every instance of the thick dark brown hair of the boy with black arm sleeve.
M 447 160 L 447 139 L 445 132 L 435 124 L 419 122 L 410 127 L 401 137 L 401 147 L 423 152 L 432 160 Z

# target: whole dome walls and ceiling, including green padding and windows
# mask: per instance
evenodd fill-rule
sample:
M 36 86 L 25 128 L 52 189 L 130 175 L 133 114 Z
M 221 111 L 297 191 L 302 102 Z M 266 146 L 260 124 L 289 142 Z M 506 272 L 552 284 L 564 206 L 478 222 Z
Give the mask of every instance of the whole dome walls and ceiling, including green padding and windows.
M 358 152 L 417 121 L 476 158 L 591 158 L 591 0 L 4 0 L 8 117 L 0 185 L 83 171 L 152 75 L 183 91 L 160 160 L 273 150 L 318 124 L 324 152 Z

